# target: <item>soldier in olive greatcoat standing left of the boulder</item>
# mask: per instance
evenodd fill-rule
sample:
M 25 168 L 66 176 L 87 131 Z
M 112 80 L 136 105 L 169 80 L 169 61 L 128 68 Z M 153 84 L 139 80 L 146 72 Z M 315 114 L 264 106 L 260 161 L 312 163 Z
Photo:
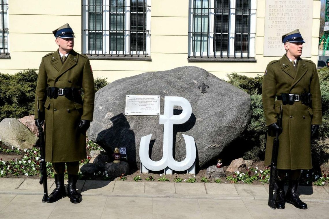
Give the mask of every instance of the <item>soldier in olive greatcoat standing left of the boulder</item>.
M 86 159 L 86 130 L 94 110 L 94 80 L 89 59 L 73 50 L 74 33 L 68 24 L 53 31 L 58 50 L 42 57 L 38 73 L 35 122 L 45 133 L 46 162 L 51 162 L 56 188 L 46 202 L 66 196 L 65 163 L 68 173 L 67 196 L 72 203 L 82 201 L 76 191 L 79 161 Z M 80 95 L 84 90 L 84 99 Z M 38 100 L 37 100 L 38 99 Z M 42 118 L 38 118 L 38 106 Z

